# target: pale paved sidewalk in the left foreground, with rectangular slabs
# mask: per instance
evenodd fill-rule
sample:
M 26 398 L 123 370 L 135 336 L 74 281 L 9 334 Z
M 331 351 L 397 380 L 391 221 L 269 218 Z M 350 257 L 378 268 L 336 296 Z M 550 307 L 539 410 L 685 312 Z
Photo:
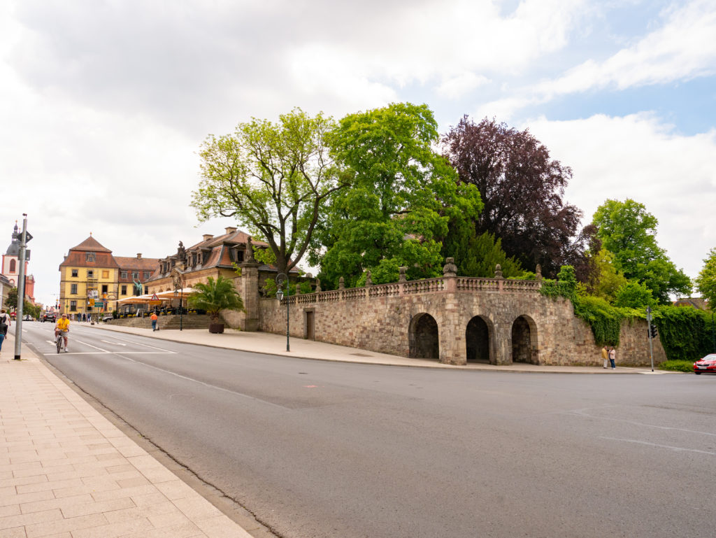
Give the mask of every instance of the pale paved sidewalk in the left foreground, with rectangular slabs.
M 251 538 L 9 335 L 0 357 L 0 538 Z

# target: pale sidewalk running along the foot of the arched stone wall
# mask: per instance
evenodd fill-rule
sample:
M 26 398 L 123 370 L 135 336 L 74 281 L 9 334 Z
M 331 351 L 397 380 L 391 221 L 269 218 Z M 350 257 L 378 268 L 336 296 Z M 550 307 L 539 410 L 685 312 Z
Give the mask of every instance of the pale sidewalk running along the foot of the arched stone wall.
M 161 321 L 160 321 L 161 323 Z M 437 360 L 429 359 L 408 359 L 399 355 L 387 355 L 374 351 L 359 350 L 355 347 L 344 347 L 341 345 L 326 344 L 326 342 L 314 342 L 299 337 L 291 337 L 289 347 L 286 351 L 286 335 L 274 335 L 270 332 L 242 332 L 233 329 L 226 329 L 221 335 L 214 335 L 206 329 L 179 330 L 158 330 L 140 329 L 137 327 L 122 327 L 120 325 L 89 325 L 82 323 L 82 327 L 95 327 L 97 330 L 108 330 L 116 332 L 127 332 L 133 335 L 142 335 L 171 342 L 185 342 L 211 347 L 221 347 L 228 350 L 241 350 L 256 353 L 269 353 L 271 355 L 283 355 L 284 357 L 300 357 L 316 360 L 333 360 L 338 362 L 359 362 L 362 364 L 412 366 L 422 368 L 443 368 L 448 370 L 488 370 L 491 372 L 533 372 L 533 373 L 581 373 L 581 374 L 651 374 L 651 368 L 619 367 L 616 370 L 604 369 L 601 366 L 538 366 L 516 362 L 512 365 L 496 366 L 470 362 L 467 365 L 455 366 L 445 365 Z M 600 359 L 601 360 L 601 359 Z M 618 362 L 617 362 L 618 364 Z M 662 370 L 655 370 L 654 374 L 665 374 Z

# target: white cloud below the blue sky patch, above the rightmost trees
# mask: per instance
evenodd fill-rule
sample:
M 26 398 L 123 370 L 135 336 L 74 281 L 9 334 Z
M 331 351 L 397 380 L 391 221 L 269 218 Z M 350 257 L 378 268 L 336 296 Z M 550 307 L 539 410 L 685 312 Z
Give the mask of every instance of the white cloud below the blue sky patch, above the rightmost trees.
M 695 277 L 716 246 L 716 129 L 684 136 L 649 114 L 528 123 L 574 171 L 566 199 L 591 221 L 606 198 L 632 198 L 659 219 L 657 239 Z M 523 127 L 526 127 L 523 126 Z

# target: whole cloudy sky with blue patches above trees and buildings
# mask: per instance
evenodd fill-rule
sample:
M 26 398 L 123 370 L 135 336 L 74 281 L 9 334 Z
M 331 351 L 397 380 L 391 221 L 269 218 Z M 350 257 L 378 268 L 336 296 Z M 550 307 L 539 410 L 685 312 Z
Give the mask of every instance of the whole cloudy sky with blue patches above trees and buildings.
M 26 213 L 54 304 L 90 232 L 160 258 L 236 225 L 189 206 L 209 134 L 403 101 L 441 133 L 529 129 L 572 168 L 584 224 L 639 201 L 692 278 L 716 246 L 713 0 L 2 0 L 0 249 Z

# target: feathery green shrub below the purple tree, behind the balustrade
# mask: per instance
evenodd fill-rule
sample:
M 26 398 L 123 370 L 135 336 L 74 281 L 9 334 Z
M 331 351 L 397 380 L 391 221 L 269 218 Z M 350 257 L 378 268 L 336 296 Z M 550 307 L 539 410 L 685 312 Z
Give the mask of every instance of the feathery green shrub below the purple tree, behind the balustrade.
M 492 278 L 497 264 L 505 278 L 524 277 L 520 262 L 503 251 L 501 239 L 495 240 L 489 232 L 475 235 L 471 221 L 451 221 L 448 236 L 442 241 L 442 258 L 454 258 L 458 274 L 464 277 Z

